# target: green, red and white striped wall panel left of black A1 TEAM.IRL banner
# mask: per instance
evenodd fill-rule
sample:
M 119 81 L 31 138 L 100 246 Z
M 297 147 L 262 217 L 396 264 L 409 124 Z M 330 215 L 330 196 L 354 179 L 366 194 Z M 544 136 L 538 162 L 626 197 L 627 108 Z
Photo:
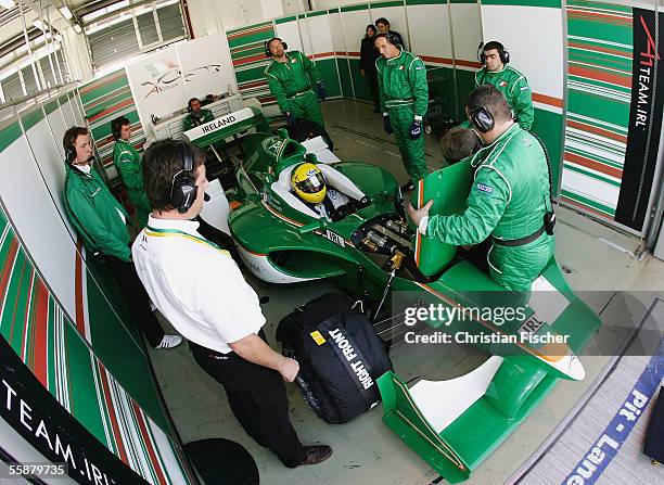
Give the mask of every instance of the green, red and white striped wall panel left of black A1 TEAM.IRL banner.
M 627 146 L 631 8 L 567 2 L 567 117 L 562 200 L 613 220 Z

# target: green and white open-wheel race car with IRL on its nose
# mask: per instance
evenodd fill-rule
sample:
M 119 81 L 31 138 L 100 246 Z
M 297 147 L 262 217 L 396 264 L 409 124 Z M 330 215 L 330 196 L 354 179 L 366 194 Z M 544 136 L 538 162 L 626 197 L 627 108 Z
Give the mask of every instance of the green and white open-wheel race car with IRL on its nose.
M 418 316 L 434 333 L 467 335 L 490 356 L 450 381 L 420 381 L 409 388 L 393 372 L 379 379 L 384 422 L 447 481 L 467 480 L 559 379 L 584 379 L 575 353 L 601 321 L 567 286 L 556 258 L 531 292 L 507 292 L 457 247 L 411 227 L 387 170 L 362 162 L 319 163 L 284 130 L 267 132 L 257 110 L 244 116 L 222 125 L 216 137 L 193 133 L 191 139 L 204 145 L 256 131 L 243 139 L 227 220 L 253 275 L 279 284 L 334 279 L 372 303 L 373 318 L 390 309 L 393 316 Z M 254 124 L 247 122 L 252 118 Z M 317 164 L 328 188 L 344 194 L 345 203 L 331 214 L 321 216 L 293 193 L 291 174 L 303 162 Z M 461 212 L 472 176 L 463 163 L 431 174 L 414 200 L 434 199 L 433 213 Z M 499 308 L 516 315 L 507 321 L 501 311 L 497 318 Z M 447 309 L 447 318 L 436 318 L 440 309 Z

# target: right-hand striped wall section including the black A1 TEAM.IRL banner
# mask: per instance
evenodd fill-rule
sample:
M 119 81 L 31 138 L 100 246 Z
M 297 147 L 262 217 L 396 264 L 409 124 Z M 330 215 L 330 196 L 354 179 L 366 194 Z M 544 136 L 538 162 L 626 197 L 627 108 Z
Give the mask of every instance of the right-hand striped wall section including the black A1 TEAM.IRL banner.
M 571 0 L 562 200 L 636 233 L 661 169 L 662 22 L 653 7 Z M 657 40 L 657 34 L 660 38 Z M 659 44 L 659 52 L 656 46 Z M 659 154 L 661 156 L 661 153 Z

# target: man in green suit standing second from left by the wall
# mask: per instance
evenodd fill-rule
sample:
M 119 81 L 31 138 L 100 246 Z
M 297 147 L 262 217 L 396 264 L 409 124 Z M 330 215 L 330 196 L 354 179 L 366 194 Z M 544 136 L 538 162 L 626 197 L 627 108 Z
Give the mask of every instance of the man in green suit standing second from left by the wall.
M 129 143 L 131 124 L 129 119 L 119 116 L 111 122 L 111 132 L 115 139 L 113 148 L 113 164 L 117 169 L 123 183 L 127 188 L 127 195 L 136 209 L 139 226 L 148 225 L 148 214 L 152 212 L 150 202 L 143 189 L 143 175 L 141 173 L 141 156 Z

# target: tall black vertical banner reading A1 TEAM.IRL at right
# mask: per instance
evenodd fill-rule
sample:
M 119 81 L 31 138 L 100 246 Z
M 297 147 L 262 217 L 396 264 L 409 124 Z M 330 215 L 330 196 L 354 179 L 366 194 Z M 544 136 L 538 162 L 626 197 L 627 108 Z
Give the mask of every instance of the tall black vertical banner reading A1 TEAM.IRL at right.
M 634 9 L 634 58 L 627 150 L 615 220 L 637 231 L 643 228 L 657 161 L 664 68 L 662 21 L 651 10 Z

